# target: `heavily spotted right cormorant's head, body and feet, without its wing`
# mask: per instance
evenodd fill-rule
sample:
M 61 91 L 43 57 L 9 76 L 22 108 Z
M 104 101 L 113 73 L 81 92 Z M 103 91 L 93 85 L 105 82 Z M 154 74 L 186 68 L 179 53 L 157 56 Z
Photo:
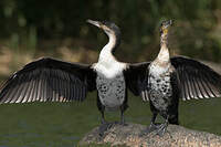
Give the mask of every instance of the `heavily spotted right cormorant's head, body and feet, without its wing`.
M 168 123 L 178 124 L 178 102 L 173 80 L 177 77 L 175 67 L 170 63 L 169 51 L 167 48 L 168 28 L 171 21 L 162 22 L 160 28 L 160 52 L 148 67 L 148 98 L 150 101 L 150 111 L 152 113 L 151 124 L 147 132 L 158 129 L 159 135 L 164 135 Z M 175 82 L 177 82 L 175 80 Z M 157 126 L 155 120 L 160 114 L 165 123 Z

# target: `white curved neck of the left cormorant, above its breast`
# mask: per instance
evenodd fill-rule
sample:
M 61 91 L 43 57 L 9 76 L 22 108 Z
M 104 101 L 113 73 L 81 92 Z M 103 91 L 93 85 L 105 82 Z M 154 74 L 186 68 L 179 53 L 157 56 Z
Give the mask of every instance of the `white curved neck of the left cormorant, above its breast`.
M 113 55 L 114 50 L 117 48 L 117 45 L 119 44 L 119 39 L 113 34 L 109 33 L 107 34 L 109 38 L 108 43 L 102 49 L 101 53 L 99 53 L 99 59 L 98 62 L 104 62 L 104 61 L 116 61 L 116 59 Z

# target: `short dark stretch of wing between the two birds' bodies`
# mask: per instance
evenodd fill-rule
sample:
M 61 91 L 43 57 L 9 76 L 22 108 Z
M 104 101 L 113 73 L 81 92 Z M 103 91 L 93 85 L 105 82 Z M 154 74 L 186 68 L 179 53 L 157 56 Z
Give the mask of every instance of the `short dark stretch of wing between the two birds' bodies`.
M 144 101 L 148 98 L 148 74 L 149 74 L 149 62 L 127 64 L 125 76 L 128 88 L 134 95 L 140 95 Z

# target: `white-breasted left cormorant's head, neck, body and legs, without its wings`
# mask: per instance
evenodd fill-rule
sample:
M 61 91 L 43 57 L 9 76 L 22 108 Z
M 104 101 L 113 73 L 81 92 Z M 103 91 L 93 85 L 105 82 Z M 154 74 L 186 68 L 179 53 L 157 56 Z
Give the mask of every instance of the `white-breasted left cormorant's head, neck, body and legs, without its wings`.
M 97 107 L 102 113 L 102 124 L 105 122 L 105 111 L 120 111 L 120 123 L 124 124 L 124 112 L 127 106 L 126 78 L 124 72 L 126 63 L 118 62 L 113 52 L 120 43 L 120 31 L 112 22 L 88 20 L 101 28 L 108 35 L 108 43 L 102 49 L 98 62 L 92 69 L 96 73 Z

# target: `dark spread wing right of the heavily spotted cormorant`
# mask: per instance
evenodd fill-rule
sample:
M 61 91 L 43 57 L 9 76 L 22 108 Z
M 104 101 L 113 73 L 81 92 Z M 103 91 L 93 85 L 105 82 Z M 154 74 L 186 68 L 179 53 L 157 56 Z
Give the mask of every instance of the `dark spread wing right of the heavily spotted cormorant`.
M 221 75 L 209 66 L 183 56 L 170 59 L 176 67 L 182 99 L 221 96 Z

